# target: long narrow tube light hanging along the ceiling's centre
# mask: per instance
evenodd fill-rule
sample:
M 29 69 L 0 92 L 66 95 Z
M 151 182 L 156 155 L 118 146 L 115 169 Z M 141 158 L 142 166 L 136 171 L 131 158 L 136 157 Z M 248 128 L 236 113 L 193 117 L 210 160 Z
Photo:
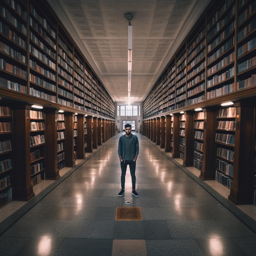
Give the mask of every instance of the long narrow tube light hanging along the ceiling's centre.
M 129 22 L 128 29 L 127 29 L 127 38 L 128 38 L 128 102 L 130 102 L 131 81 L 132 81 L 132 25 L 131 25 L 131 20 L 133 19 L 133 15 L 132 15 L 132 13 L 126 13 L 124 15 L 124 17 Z

